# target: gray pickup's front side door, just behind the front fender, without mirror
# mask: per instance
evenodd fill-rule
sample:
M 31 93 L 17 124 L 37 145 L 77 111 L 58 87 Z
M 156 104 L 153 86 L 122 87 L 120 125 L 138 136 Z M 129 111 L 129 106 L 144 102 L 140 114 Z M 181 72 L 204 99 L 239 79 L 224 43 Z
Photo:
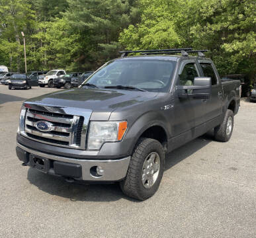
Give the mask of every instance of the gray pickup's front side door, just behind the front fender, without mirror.
M 194 85 L 194 77 L 199 77 L 200 71 L 195 60 L 183 60 L 178 69 L 176 86 Z M 173 136 L 185 135 L 184 139 L 194 137 L 192 129 L 205 122 L 205 102 L 202 99 L 187 97 L 180 99 L 175 93 Z M 183 140 L 183 139 L 181 139 Z

